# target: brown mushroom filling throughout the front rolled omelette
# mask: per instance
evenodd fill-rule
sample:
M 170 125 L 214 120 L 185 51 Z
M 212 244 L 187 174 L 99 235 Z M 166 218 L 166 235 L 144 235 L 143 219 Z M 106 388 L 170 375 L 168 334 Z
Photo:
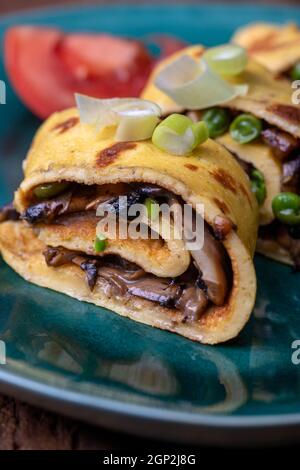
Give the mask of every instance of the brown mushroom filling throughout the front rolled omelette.
M 67 187 L 60 194 L 49 198 L 41 199 L 33 191 L 21 219 L 37 228 L 43 224 L 65 225 L 74 218 L 80 218 L 84 224 L 85 218 L 96 218 L 97 207 L 103 202 L 109 203 L 117 214 L 134 203 L 144 203 L 147 198 L 159 204 L 177 204 L 177 208 L 183 204 L 180 197 L 152 184 L 65 185 Z M 120 207 L 120 195 L 127 196 L 125 208 Z M 192 214 L 190 226 L 183 231 L 188 237 L 189 232 L 195 230 L 195 211 Z M 108 297 L 145 299 L 173 312 L 174 321 L 187 322 L 197 321 L 210 306 L 224 305 L 230 293 L 231 262 L 220 239 L 220 233 L 214 234 L 204 222 L 203 246 L 189 251 L 189 267 L 177 277 L 156 276 L 125 257 L 105 253 L 105 249 L 101 255 L 91 255 L 64 246 L 47 246 L 43 254 L 48 266 L 78 266 L 85 273 L 92 291 L 100 284 Z

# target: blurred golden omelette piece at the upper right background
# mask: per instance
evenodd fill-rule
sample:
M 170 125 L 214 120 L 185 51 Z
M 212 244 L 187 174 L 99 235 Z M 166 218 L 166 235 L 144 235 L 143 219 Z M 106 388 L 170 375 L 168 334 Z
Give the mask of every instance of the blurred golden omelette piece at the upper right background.
M 300 30 L 294 23 L 249 24 L 235 32 L 232 42 L 276 76 L 291 78 L 292 67 L 300 64 Z

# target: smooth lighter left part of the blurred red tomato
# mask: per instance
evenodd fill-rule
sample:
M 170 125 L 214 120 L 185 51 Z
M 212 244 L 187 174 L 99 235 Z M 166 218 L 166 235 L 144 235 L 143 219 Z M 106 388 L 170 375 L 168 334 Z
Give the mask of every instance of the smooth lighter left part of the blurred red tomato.
M 62 34 L 55 29 L 11 28 L 4 43 L 5 64 L 22 101 L 41 118 L 72 105 L 55 55 Z

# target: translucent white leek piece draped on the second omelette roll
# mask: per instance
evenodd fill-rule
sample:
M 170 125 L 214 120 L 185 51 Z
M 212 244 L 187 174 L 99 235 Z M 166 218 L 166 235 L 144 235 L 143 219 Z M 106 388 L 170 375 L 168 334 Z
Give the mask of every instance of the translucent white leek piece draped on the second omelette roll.
M 186 109 L 205 109 L 231 101 L 241 94 L 240 86 L 226 82 L 205 62 L 183 55 L 167 65 L 155 85 Z M 242 88 L 243 94 L 245 87 Z

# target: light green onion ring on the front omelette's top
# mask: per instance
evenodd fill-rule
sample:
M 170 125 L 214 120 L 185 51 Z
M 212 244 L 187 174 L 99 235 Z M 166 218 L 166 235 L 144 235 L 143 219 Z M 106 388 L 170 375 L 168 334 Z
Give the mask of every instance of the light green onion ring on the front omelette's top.
M 186 155 L 208 139 L 205 122 L 194 123 L 182 114 L 171 114 L 154 130 L 153 144 L 173 155 Z

